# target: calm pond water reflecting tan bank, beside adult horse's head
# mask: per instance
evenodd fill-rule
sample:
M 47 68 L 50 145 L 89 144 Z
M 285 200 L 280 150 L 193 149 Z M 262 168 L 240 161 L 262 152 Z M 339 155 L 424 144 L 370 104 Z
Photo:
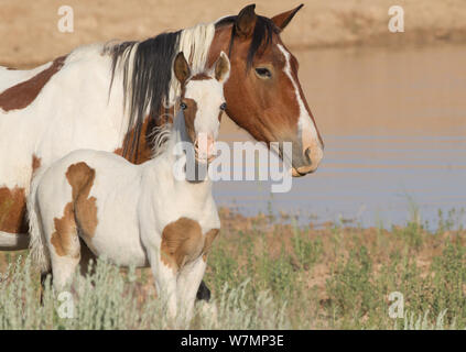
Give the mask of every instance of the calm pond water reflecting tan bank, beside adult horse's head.
M 216 183 L 219 206 L 365 227 L 402 224 L 413 209 L 435 226 L 440 210 L 456 209 L 466 223 L 465 46 L 294 54 L 324 161 L 285 194 L 270 194 L 268 182 Z M 220 140 L 249 140 L 224 121 Z

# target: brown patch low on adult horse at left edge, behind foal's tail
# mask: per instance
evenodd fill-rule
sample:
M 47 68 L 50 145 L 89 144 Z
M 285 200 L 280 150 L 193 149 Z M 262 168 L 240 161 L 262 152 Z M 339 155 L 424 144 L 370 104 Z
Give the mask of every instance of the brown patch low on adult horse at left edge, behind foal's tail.
M 0 231 L 28 233 L 24 188 L 0 188 Z

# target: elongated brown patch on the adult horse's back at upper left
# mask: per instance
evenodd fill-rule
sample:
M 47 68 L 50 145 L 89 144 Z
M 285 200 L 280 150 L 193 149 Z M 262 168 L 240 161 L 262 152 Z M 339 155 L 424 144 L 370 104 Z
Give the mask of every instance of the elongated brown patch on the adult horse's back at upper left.
M 0 108 L 4 111 L 24 109 L 37 98 L 45 84 L 64 65 L 66 56 L 56 58 L 51 67 L 39 73 L 34 77 L 8 88 L 0 94 Z

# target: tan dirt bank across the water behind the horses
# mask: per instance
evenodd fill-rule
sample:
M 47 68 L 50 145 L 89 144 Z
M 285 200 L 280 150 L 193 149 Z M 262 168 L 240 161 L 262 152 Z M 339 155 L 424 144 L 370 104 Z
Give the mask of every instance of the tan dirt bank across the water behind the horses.
M 0 0 L 0 64 L 28 67 L 74 47 L 112 38 L 144 38 L 162 31 L 236 14 L 251 0 L 69 0 L 74 33 L 57 30 L 56 0 Z M 257 12 L 272 16 L 301 1 L 256 1 Z M 404 46 L 466 42 L 463 0 L 398 1 L 404 9 L 404 33 L 388 31 L 392 0 L 307 0 L 283 33 L 294 50 L 327 46 Z

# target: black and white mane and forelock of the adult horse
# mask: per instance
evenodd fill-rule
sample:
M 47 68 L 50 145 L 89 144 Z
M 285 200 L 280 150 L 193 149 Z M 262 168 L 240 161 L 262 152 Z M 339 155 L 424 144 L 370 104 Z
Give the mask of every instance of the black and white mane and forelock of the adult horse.
M 144 119 L 154 119 L 154 127 L 163 127 L 161 118 L 174 106 L 180 96 L 180 85 L 173 79 L 173 61 L 178 52 L 184 52 L 189 61 L 193 75 L 206 69 L 206 62 L 215 30 L 234 24 L 236 15 L 226 16 L 210 24 L 199 24 L 177 32 L 162 33 L 141 42 L 108 44 L 105 54 L 111 56 L 111 82 L 117 74 L 122 77 L 123 108 L 128 111 L 129 123 L 123 145 L 123 156 L 136 160 Z M 258 15 L 252 41 L 248 51 L 247 69 L 252 66 L 254 56 L 271 44 L 272 35 L 280 30 L 264 16 Z M 229 53 L 235 38 L 235 25 L 231 26 Z M 110 91 L 110 90 L 109 90 Z M 149 131 L 152 138 L 164 129 Z M 160 140 L 159 140 L 160 141 Z M 155 143 L 155 145 L 159 143 Z

